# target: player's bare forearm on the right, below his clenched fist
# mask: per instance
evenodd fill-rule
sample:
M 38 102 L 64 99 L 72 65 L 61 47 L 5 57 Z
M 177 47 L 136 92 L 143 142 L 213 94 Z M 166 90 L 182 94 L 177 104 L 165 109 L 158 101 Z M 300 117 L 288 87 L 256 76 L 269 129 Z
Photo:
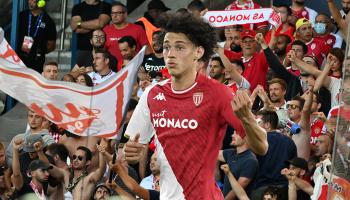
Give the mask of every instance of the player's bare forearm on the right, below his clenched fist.
M 250 113 L 250 116 L 243 117 L 241 121 L 245 128 L 246 141 L 250 149 L 258 155 L 265 155 L 268 149 L 266 131 L 258 125 L 253 113 Z

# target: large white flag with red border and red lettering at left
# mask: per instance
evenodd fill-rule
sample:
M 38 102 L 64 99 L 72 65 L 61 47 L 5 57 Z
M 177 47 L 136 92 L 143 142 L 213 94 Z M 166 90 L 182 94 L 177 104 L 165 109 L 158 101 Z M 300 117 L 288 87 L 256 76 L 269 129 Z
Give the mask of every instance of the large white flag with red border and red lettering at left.
M 0 47 L 0 90 L 76 135 L 116 138 L 145 47 L 125 68 L 95 87 L 46 80 L 24 67 L 5 39 Z

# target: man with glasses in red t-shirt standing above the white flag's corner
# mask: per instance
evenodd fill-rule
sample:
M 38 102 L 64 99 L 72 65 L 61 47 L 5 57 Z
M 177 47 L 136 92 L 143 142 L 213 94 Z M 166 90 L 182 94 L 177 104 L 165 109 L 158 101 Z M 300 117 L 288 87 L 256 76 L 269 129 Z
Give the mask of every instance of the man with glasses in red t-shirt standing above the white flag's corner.
M 145 31 L 140 26 L 128 23 L 126 21 L 128 13 L 124 4 L 114 2 L 112 4 L 111 17 L 112 23 L 103 29 L 103 31 L 106 33 L 105 46 L 108 51 L 117 58 L 117 71 L 119 71 L 123 64 L 123 56 L 116 42 L 123 36 L 129 35 L 136 40 L 136 52 L 138 52 L 142 46 L 148 45 L 148 40 Z M 150 50 L 148 50 L 146 54 L 149 53 Z

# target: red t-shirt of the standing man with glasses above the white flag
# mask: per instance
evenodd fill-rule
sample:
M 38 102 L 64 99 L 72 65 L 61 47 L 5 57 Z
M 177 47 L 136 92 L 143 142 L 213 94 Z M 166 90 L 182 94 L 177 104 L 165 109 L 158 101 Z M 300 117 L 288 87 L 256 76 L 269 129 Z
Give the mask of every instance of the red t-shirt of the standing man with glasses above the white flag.
M 123 56 L 120 53 L 118 40 L 124 36 L 131 36 L 136 40 L 136 51 L 139 51 L 142 46 L 148 45 L 148 40 L 145 30 L 141 26 L 129 23 L 122 29 L 116 29 L 113 24 L 104 27 L 103 31 L 106 33 L 105 47 L 108 51 L 118 59 L 118 71 L 123 64 Z

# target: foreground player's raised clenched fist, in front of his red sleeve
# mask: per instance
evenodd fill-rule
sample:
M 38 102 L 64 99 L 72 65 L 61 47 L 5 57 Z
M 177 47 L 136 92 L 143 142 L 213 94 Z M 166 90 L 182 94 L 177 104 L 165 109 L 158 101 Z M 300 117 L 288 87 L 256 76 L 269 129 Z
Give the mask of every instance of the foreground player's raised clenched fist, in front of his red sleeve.
M 246 91 L 238 90 L 236 96 L 232 99 L 231 105 L 239 119 L 254 118 L 253 113 L 251 112 L 252 102 Z

